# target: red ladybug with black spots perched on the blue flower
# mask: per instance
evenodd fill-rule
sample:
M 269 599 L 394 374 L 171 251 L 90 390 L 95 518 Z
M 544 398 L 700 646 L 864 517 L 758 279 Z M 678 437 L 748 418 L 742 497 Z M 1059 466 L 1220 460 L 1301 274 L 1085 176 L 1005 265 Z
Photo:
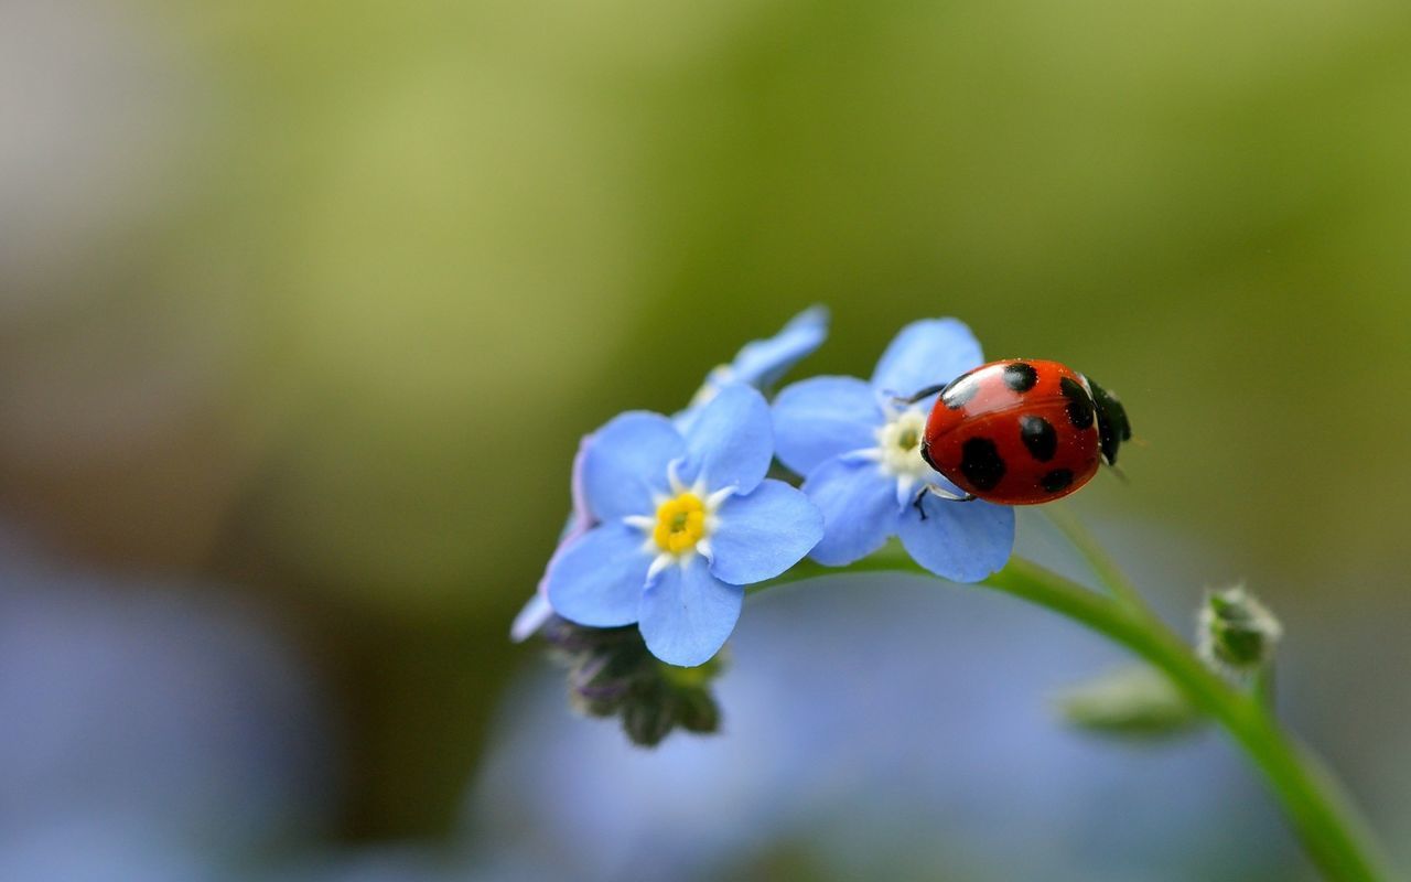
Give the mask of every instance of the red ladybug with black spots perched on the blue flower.
M 991 361 L 907 401 L 935 392 L 921 459 L 965 491 L 959 501 L 1050 502 L 1086 484 L 1099 464 L 1115 466 L 1118 447 L 1132 440 L 1118 397 L 1058 361 Z

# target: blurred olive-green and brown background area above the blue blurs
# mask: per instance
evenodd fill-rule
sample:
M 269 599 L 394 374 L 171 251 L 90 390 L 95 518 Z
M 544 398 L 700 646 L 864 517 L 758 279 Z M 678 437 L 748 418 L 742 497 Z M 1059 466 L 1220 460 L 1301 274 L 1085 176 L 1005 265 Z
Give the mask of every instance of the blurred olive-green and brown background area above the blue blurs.
M 954 315 L 1118 389 L 1130 481 L 1077 508 L 1157 570 L 1209 549 L 1291 653 L 1411 621 L 1404 3 L 4 16 L 7 516 L 275 610 L 341 708 L 347 840 L 450 828 L 579 436 L 814 302 L 796 375 Z M 1304 665 L 1315 744 L 1367 727 L 1335 766 L 1401 755 L 1364 708 L 1394 634 Z

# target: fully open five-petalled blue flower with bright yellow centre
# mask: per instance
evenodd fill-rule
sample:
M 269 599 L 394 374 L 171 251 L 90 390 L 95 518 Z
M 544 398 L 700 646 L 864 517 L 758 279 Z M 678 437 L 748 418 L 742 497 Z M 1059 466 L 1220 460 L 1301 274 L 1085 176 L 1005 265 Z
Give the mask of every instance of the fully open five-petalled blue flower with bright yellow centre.
M 593 435 L 583 457 L 587 508 L 601 521 L 549 569 L 549 603 L 580 625 L 641 628 L 670 665 L 707 662 L 724 645 L 744 586 L 797 563 L 823 536 L 823 516 L 782 481 L 769 405 L 728 385 L 687 432 L 642 411 Z

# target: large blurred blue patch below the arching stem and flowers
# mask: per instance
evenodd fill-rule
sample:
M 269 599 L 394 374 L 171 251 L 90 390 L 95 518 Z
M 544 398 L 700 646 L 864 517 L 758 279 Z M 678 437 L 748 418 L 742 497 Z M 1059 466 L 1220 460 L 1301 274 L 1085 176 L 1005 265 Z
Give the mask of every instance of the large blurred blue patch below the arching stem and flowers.
M 1053 720 L 1046 693 L 1125 658 L 919 577 L 772 588 L 731 638 L 721 737 L 642 751 L 566 720 L 555 673 L 507 690 L 468 847 L 581 882 L 780 878 L 780 859 L 897 882 L 1294 878 L 1295 842 L 1216 732 L 1115 747 Z

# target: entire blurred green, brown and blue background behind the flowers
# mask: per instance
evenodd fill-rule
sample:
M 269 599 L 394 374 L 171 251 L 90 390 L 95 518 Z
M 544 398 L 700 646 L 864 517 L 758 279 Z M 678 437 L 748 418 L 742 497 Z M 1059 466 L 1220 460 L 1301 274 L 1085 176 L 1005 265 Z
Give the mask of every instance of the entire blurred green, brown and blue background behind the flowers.
M 816 302 L 796 375 L 955 315 L 1118 389 L 1074 507 L 1280 612 L 1411 865 L 1408 107 L 1394 0 L 8 0 L 0 875 L 1311 878 L 972 590 L 759 598 L 715 739 L 567 711 L 507 631 L 577 437 Z

